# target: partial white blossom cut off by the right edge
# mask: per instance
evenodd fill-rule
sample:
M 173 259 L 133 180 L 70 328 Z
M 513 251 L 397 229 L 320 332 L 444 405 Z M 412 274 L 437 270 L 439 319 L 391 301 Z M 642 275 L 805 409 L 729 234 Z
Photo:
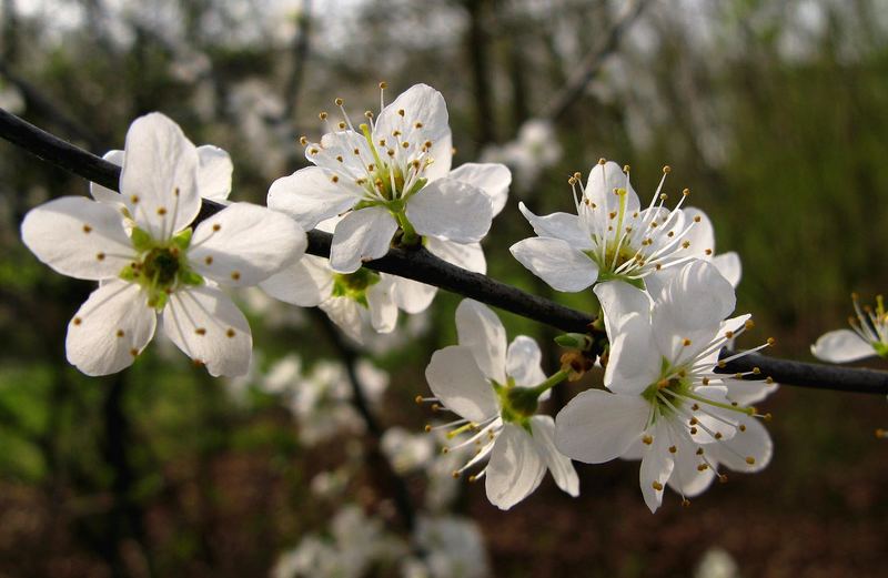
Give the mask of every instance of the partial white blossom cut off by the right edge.
M 885 300 L 876 296 L 876 308 L 860 306 L 857 293 L 851 294 L 856 317 L 848 317 L 850 329 L 826 333 L 811 345 L 818 359 L 829 363 L 847 363 L 878 355 L 888 357 L 888 313 Z M 854 329 L 854 331 L 851 331 Z

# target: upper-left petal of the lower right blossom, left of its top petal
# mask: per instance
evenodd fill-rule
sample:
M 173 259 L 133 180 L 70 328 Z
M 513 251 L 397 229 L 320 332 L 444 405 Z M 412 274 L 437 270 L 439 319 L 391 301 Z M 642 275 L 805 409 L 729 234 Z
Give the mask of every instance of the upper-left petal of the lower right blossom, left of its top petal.
M 615 393 L 640 394 L 657 381 L 662 364 L 650 323 L 642 314 L 629 314 L 622 320 L 617 333 L 610 335 L 604 384 Z

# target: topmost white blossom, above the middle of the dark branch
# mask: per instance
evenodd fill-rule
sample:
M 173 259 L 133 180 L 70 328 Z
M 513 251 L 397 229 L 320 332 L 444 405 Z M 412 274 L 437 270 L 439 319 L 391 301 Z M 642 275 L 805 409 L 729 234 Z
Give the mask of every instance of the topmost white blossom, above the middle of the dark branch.
M 302 140 L 315 166 L 276 180 L 269 206 L 305 229 L 344 213 L 330 253 L 330 265 L 339 273 L 354 273 L 363 261 L 383 256 L 393 240 L 405 245 L 422 242 L 440 257 L 483 273 L 478 242 L 505 205 L 508 169 L 468 163 L 451 171 L 447 108 L 441 93 L 425 84 L 384 107 L 375 122 L 366 112 L 366 123 L 359 126 L 341 99 L 336 105 L 343 121 L 320 143 Z M 321 118 L 327 120 L 327 114 Z M 411 283 L 396 298 L 401 308 L 416 313 L 428 305 L 435 290 Z

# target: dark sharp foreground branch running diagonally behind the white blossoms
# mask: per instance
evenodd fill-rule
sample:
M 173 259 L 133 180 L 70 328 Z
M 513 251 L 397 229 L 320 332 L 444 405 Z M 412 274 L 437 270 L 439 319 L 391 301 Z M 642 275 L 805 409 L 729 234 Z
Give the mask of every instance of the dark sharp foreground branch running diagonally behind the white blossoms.
M 118 190 L 119 166 L 62 141 L 2 109 L 0 109 L 0 136 L 73 174 L 108 189 Z M 204 200 L 198 219 L 206 219 L 223 207 L 219 203 Z M 329 257 L 331 239 L 332 235 L 329 233 L 309 231 L 307 252 Z M 370 261 L 365 266 L 435 285 L 562 331 L 585 333 L 589 331 L 588 324 L 593 322 L 586 313 L 531 295 L 486 275 L 465 271 L 435 257 L 423 249 L 392 249 L 384 257 Z M 784 385 L 888 395 L 888 372 L 774 359 L 759 354 L 730 362 L 725 371 L 749 372 L 754 367 L 760 369 L 763 377 L 771 377 Z

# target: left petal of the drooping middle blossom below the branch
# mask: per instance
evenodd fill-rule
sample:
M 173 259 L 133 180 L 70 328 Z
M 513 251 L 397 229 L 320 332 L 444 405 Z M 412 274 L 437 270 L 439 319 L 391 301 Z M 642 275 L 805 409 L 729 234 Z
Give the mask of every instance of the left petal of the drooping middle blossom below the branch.
M 435 397 L 466 419 L 481 423 L 500 413 L 496 394 L 468 347 L 451 345 L 436 351 L 425 378 Z

